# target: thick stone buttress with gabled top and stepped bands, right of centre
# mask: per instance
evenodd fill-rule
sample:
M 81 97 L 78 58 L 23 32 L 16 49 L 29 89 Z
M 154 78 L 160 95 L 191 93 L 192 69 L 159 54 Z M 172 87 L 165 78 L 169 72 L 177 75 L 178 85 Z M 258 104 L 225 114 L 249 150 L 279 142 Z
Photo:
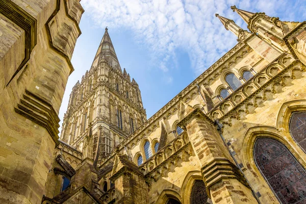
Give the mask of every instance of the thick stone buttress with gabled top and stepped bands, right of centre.
M 214 203 L 258 203 L 224 145 L 213 121 L 200 109 L 188 114 L 185 124 L 191 145 L 201 164 L 203 181 Z

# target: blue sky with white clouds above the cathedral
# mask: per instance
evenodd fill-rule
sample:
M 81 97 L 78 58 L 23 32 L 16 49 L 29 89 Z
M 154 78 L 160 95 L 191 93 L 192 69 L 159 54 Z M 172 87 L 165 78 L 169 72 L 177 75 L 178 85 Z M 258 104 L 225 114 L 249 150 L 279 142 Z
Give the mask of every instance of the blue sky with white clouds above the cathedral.
M 92 64 L 105 27 L 121 65 L 139 84 L 147 118 L 190 84 L 236 43 L 215 13 L 246 24 L 230 7 L 265 12 L 283 21 L 306 19 L 306 1 L 297 0 L 82 0 L 85 9 L 72 56 L 59 117 L 69 94 Z

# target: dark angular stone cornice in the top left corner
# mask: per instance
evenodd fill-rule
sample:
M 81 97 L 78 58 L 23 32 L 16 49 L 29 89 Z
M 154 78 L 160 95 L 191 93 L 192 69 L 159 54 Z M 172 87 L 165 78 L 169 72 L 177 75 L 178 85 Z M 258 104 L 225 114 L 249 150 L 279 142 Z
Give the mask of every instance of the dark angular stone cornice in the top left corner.
M 24 59 L 12 75 L 11 79 L 7 82 L 8 86 L 14 79 L 15 75 L 30 59 L 32 49 L 37 42 L 37 20 L 29 13 L 25 12 L 21 7 L 16 5 L 13 1 L 0 1 L 0 13 L 22 28 L 25 33 Z

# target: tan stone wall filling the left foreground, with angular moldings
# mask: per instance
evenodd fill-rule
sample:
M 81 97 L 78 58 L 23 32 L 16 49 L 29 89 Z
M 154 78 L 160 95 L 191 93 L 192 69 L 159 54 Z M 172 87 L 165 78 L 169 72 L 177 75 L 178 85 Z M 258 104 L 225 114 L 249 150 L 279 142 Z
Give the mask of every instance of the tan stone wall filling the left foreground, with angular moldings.
M 41 203 L 83 12 L 79 0 L 0 1 L 0 203 Z

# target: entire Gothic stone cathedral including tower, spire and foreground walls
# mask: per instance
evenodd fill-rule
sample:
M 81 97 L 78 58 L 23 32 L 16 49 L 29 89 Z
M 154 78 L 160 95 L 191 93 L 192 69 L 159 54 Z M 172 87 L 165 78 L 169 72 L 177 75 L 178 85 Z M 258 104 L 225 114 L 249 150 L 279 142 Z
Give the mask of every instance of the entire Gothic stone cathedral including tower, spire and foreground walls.
M 106 28 L 59 133 L 80 1 L 0 1 L 0 203 L 306 203 L 306 21 L 231 9 L 248 30 L 216 14 L 237 44 L 148 119 Z

